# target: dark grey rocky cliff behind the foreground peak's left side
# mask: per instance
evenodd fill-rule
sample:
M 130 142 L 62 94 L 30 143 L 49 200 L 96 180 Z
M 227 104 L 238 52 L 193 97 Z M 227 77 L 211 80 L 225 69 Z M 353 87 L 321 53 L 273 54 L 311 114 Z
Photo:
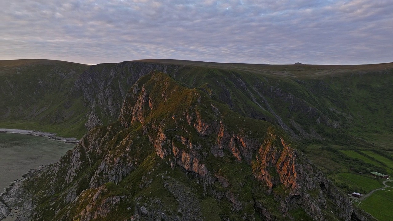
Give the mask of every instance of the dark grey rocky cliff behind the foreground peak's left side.
M 70 98 L 82 98 L 89 110 L 85 127 L 92 129 L 119 117 L 127 91 L 141 76 L 153 70 L 175 74 L 180 68 L 180 65 L 142 62 L 92 65 L 75 81 Z

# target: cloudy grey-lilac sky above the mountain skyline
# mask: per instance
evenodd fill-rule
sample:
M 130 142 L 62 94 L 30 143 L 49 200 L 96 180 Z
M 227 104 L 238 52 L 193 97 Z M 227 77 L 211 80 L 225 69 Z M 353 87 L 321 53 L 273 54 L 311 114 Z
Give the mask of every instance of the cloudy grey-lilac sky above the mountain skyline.
M 2 0 L 0 8 L 0 60 L 393 62 L 391 0 Z

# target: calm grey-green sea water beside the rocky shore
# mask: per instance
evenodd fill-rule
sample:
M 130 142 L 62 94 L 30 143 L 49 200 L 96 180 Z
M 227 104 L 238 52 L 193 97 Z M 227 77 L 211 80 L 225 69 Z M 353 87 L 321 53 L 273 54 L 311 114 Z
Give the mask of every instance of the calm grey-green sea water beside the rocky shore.
M 41 136 L 0 133 L 0 193 L 30 169 L 57 162 L 73 147 Z

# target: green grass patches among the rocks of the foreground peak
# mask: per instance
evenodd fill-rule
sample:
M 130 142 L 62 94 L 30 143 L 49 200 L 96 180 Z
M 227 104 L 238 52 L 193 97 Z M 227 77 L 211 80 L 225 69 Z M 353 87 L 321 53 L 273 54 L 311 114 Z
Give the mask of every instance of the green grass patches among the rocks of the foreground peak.
M 274 131 L 272 125 L 265 121 L 255 120 L 251 118 L 245 118 L 233 111 L 231 111 L 226 105 L 216 103 L 209 99 L 206 94 L 198 89 L 189 89 L 178 85 L 176 81 L 171 80 L 168 76 L 164 74 L 157 74 L 154 77 L 145 76 L 140 79 L 141 86 L 143 83 L 147 83 L 146 89 L 149 91 L 149 98 L 154 98 L 152 100 L 153 110 L 149 111 L 149 108 L 146 108 L 145 122 L 144 125 L 161 125 L 163 127 L 163 131 L 167 131 L 167 129 L 173 129 L 173 127 L 185 128 L 187 131 L 190 131 L 189 134 L 181 134 L 179 132 L 168 133 L 169 139 L 172 139 L 174 142 L 177 141 L 176 135 L 180 133 L 180 135 L 185 136 L 193 143 L 202 144 L 204 147 L 209 147 L 212 145 L 212 137 L 201 138 L 193 129 L 192 126 L 188 125 L 184 120 L 173 120 L 171 116 L 183 116 L 184 112 L 189 109 L 189 107 L 194 107 L 195 110 L 200 112 L 204 112 L 206 115 L 203 118 L 211 120 L 211 118 L 215 120 L 221 119 L 222 122 L 228 127 L 229 131 L 235 131 L 236 133 L 246 133 L 249 134 L 249 137 L 264 140 L 268 135 L 266 133 L 272 134 L 280 134 L 279 131 Z M 162 96 L 162 90 L 160 90 L 160 86 L 165 87 L 168 94 L 172 94 L 172 96 L 168 97 L 168 99 L 164 99 Z M 198 98 L 201 99 L 201 103 L 198 103 Z M 165 100 L 165 101 L 164 101 Z M 130 105 L 134 103 L 132 100 L 129 101 Z M 215 103 L 215 106 L 218 107 L 221 111 L 221 115 L 216 116 L 212 111 L 210 104 Z M 175 117 L 175 119 L 177 119 Z M 233 119 L 237 119 L 238 122 L 233 122 Z M 208 122 L 209 122 L 208 120 Z M 176 124 L 174 125 L 174 122 Z M 101 127 L 102 128 L 102 127 Z M 96 127 L 96 130 L 100 128 Z M 105 129 L 103 129 L 105 130 Z M 119 131 L 117 131 L 119 130 Z M 251 133 L 251 132 L 252 133 Z M 170 170 L 168 164 L 168 158 L 161 159 L 157 156 L 154 151 L 154 147 L 152 147 L 151 142 L 148 140 L 148 136 L 154 134 L 154 131 L 148 132 L 152 134 L 143 134 L 140 123 L 134 123 L 131 127 L 125 129 L 118 125 L 116 127 L 114 125 L 114 131 L 111 132 L 113 135 L 112 140 L 107 140 L 107 142 L 101 144 L 103 145 L 105 151 L 109 153 L 120 153 L 121 155 L 127 153 L 127 149 L 130 146 L 129 143 L 132 143 L 131 155 L 136 159 L 143 159 L 143 162 L 138 164 L 138 168 L 132 171 L 127 177 L 125 177 L 118 185 L 113 185 L 110 194 L 114 192 L 118 192 L 118 190 L 126 190 L 128 192 L 124 193 L 129 199 L 138 199 L 140 204 L 151 203 L 151 199 L 154 197 L 159 197 L 162 201 L 161 207 L 166 208 L 167 214 L 176 213 L 178 203 L 173 194 L 171 194 L 166 188 L 165 183 L 169 182 L 180 182 L 182 185 L 187 186 L 189 191 L 196 195 L 196 200 L 200 201 L 202 207 L 202 214 L 206 217 L 206 220 L 217 220 L 222 219 L 223 217 L 229 217 L 231 220 L 238 220 L 242 216 L 244 216 L 244 212 L 253 211 L 252 203 L 247 204 L 242 213 L 237 213 L 231 211 L 231 203 L 226 200 L 216 201 L 209 194 L 204 194 L 203 186 L 196 183 L 194 179 L 192 179 L 192 173 L 184 173 L 183 170 L 176 167 L 174 170 Z M 103 133 L 105 134 L 105 133 Z M 108 136 L 111 138 L 112 136 Z M 124 139 L 124 140 L 123 140 Z M 278 138 L 277 138 L 278 139 Z M 178 141 L 177 141 L 178 142 Z M 214 142 L 214 141 L 213 141 Z M 272 142 L 279 142 L 278 140 L 272 140 Z M 182 144 L 178 144 L 180 148 L 182 148 Z M 227 155 L 228 153 L 226 153 Z M 83 174 L 78 175 L 78 179 L 90 180 L 86 179 L 86 177 L 90 178 L 91 172 L 94 171 L 99 165 L 99 161 L 95 163 L 90 168 L 84 168 Z M 232 184 L 230 190 L 232 193 L 237 195 L 241 201 L 244 202 L 253 202 L 252 198 L 252 188 L 257 188 L 258 182 L 253 177 L 250 166 L 245 162 L 239 163 L 234 160 L 233 157 L 224 157 L 224 158 L 216 158 L 212 155 L 209 156 L 208 160 L 206 160 L 206 165 L 208 165 L 209 169 L 212 170 L 212 173 L 219 173 L 221 176 L 225 177 Z M 237 164 L 234 166 L 234 164 Z M 85 165 L 84 165 L 85 166 Z M 174 179 L 173 179 L 174 178 Z M 145 182 L 144 180 L 151 180 L 151 184 L 149 184 L 146 188 L 140 188 L 140 184 Z M 174 181 L 173 181 L 174 180 Z M 50 179 L 40 180 L 40 186 L 44 184 L 42 182 L 50 182 Z M 75 182 L 75 180 L 74 180 Z M 244 185 L 240 186 L 239 183 Z M 62 183 L 59 182 L 59 185 Z M 216 185 L 220 192 L 224 192 L 225 190 L 220 187 L 220 185 Z M 32 187 L 28 187 L 32 188 Z M 94 190 L 89 190 L 94 191 Z M 279 191 L 279 190 L 273 190 Z M 261 200 L 266 201 L 274 201 L 273 197 L 270 198 L 261 191 Z M 50 211 L 48 208 L 51 204 L 51 196 L 43 196 L 40 199 L 40 204 L 38 210 L 45 211 L 44 214 L 50 214 L 54 211 Z M 58 199 L 62 202 L 61 199 Z M 70 214 L 78 214 L 81 210 L 86 207 L 88 202 L 88 198 L 81 199 L 78 201 L 77 205 L 72 205 L 70 207 L 64 207 L 58 214 L 57 217 L 61 217 L 64 213 L 70 211 Z M 133 210 L 126 210 L 128 206 L 134 208 L 135 204 L 133 201 L 124 202 L 124 205 L 121 204 L 119 206 L 119 211 L 116 213 L 116 217 L 119 217 L 123 220 L 127 217 L 130 217 L 133 214 Z M 126 205 L 127 204 L 127 205 Z M 271 204 L 272 210 L 277 210 L 275 206 L 279 206 L 276 204 Z M 63 207 L 63 206 L 62 206 Z M 124 207 L 124 209 L 123 209 Z M 299 217 L 298 220 L 308 220 L 309 217 L 304 213 L 303 210 L 289 211 L 290 213 L 294 213 L 296 217 Z M 50 216 L 49 215 L 49 216 Z M 115 214 L 113 214 L 115 215 Z M 330 214 L 329 214 L 330 215 Z M 257 216 L 257 215 L 255 215 Z M 281 214 L 277 214 L 278 217 L 281 217 Z M 108 215 L 108 219 L 112 216 Z M 257 217 L 258 218 L 258 217 Z M 260 218 L 260 217 L 259 217 Z M 106 219 L 102 219 L 106 220 Z M 258 220 L 258 219 L 257 219 Z M 260 220 L 260 219 L 259 219 Z

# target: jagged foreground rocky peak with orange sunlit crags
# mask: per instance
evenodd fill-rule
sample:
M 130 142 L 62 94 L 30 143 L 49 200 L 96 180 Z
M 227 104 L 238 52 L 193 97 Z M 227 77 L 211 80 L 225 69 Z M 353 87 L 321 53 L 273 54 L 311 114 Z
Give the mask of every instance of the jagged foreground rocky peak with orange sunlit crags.
M 141 77 L 119 118 L 2 197 L 19 220 L 373 220 L 298 145 L 162 72 Z

